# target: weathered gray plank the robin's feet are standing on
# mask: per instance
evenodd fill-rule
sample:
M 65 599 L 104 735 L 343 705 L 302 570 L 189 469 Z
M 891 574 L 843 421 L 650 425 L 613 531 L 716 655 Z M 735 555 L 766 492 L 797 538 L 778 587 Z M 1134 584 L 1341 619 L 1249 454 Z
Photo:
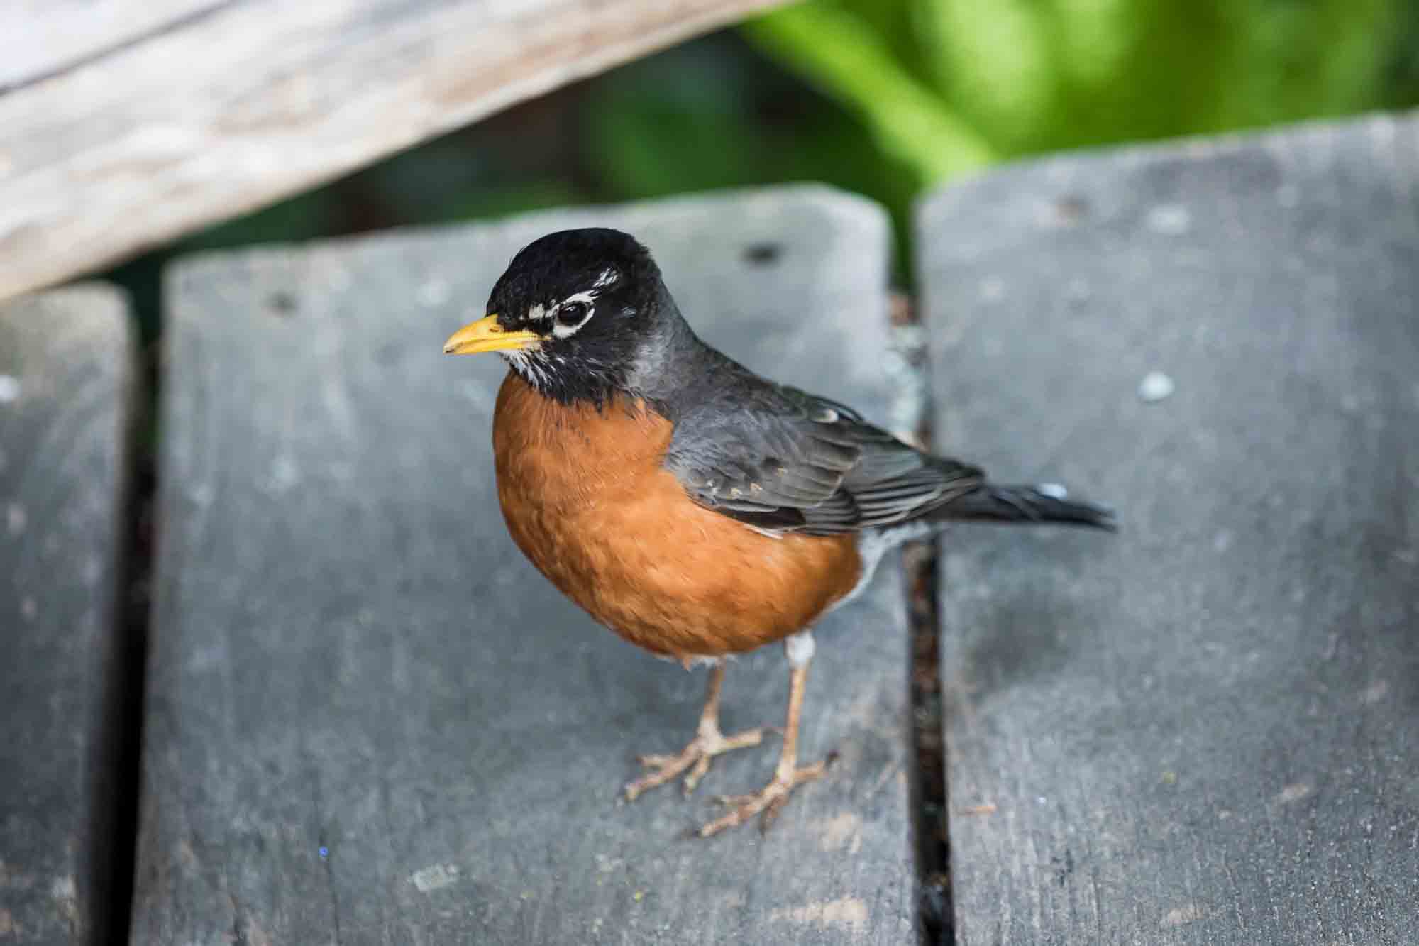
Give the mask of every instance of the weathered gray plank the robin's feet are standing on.
M 766 838 L 681 834 L 775 746 L 690 801 L 616 803 L 636 753 L 685 741 L 704 673 L 524 561 L 492 480 L 502 366 L 440 354 L 517 247 L 593 222 L 653 247 L 712 342 L 884 416 L 885 220 L 822 189 L 183 264 L 138 942 L 910 942 L 895 570 L 822 628 L 802 751 L 841 763 Z M 735 662 L 725 726 L 779 720 L 786 682 L 778 648 Z

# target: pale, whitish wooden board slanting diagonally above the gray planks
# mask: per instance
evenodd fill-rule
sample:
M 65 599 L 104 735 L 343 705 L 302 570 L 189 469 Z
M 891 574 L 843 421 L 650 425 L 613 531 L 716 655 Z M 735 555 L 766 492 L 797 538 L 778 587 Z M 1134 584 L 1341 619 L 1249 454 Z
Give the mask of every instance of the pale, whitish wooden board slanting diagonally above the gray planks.
M 0 298 L 780 0 L 102 0 L 0 14 Z M 9 87 L 9 91 L 6 91 Z

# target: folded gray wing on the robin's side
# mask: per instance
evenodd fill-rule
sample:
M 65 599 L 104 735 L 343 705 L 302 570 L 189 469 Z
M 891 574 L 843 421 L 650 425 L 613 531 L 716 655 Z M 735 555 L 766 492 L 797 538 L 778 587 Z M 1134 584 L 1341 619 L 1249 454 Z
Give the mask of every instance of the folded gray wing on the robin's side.
M 981 470 L 925 455 L 796 388 L 739 388 L 675 423 L 666 467 L 708 509 L 756 528 L 833 535 L 902 523 L 972 491 Z

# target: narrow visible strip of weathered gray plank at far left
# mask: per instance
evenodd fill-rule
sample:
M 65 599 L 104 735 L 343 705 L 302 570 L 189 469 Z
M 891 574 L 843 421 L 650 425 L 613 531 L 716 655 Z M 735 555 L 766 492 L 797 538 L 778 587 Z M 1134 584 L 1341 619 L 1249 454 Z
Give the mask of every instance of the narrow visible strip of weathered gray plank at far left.
M 98 942 L 133 388 L 105 286 L 0 307 L 0 940 Z

